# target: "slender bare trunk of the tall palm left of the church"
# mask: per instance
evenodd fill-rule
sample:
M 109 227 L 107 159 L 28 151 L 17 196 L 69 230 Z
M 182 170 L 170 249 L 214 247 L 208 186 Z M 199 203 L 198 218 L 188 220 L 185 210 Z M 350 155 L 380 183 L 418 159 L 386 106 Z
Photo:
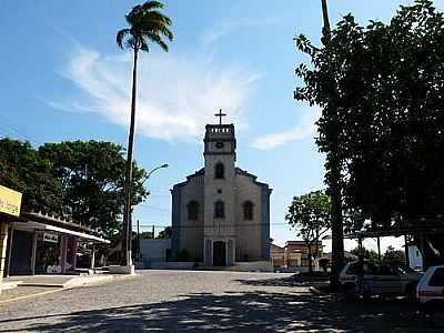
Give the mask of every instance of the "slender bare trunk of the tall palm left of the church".
M 132 265 L 131 258 L 131 239 L 132 239 L 132 224 L 131 224 L 131 206 L 132 206 L 132 154 L 134 145 L 134 128 L 135 128 L 135 95 L 138 83 L 138 48 L 134 48 L 134 60 L 132 71 L 132 94 L 131 94 L 131 121 L 130 131 L 128 133 L 128 150 L 127 150 L 127 165 L 124 179 L 124 209 L 123 209 L 123 243 L 122 254 L 125 265 Z

